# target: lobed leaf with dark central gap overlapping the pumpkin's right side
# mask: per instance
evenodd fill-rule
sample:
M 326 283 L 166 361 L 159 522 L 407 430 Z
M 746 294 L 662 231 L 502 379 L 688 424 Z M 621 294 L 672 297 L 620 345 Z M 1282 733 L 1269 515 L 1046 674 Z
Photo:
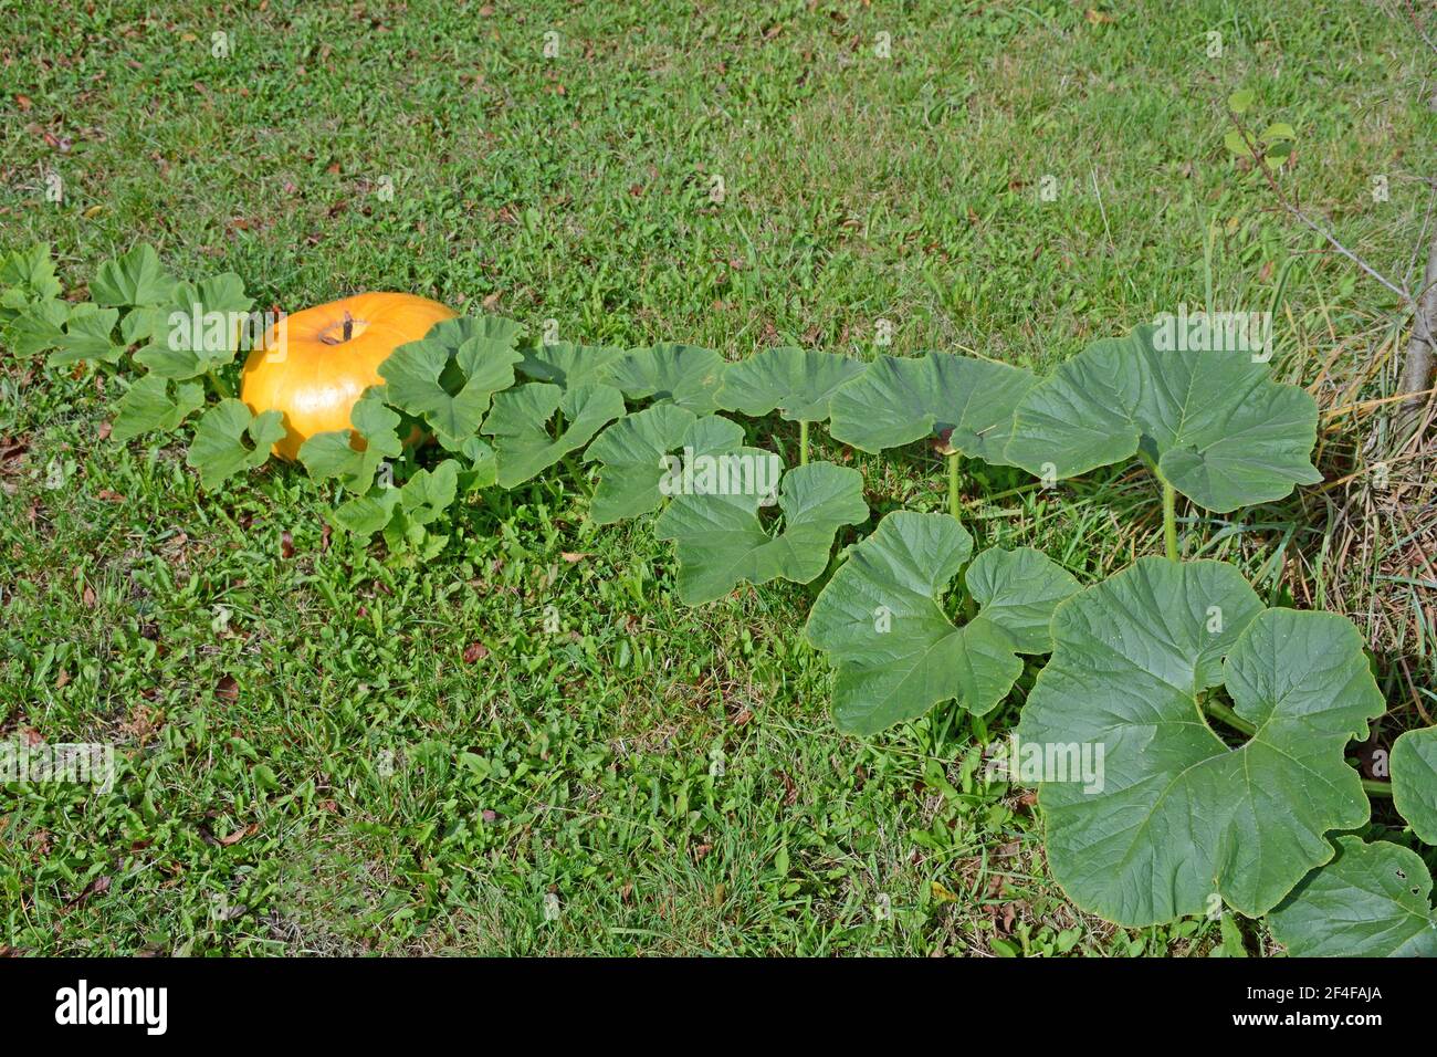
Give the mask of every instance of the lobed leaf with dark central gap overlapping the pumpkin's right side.
M 496 393 L 514 384 L 517 326 L 507 319 L 460 316 L 435 324 L 379 364 L 387 398 L 424 418 L 457 452 L 479 433 Z

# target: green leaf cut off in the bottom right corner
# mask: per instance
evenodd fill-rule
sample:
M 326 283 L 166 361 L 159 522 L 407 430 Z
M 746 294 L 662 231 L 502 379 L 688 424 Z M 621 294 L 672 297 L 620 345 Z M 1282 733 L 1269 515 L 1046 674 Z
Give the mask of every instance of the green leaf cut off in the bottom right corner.
M 1267 916 L 1295 958 L 1437 958 L 1433 879 L 1415 851 L 1338 837 L 1336 856 Z

